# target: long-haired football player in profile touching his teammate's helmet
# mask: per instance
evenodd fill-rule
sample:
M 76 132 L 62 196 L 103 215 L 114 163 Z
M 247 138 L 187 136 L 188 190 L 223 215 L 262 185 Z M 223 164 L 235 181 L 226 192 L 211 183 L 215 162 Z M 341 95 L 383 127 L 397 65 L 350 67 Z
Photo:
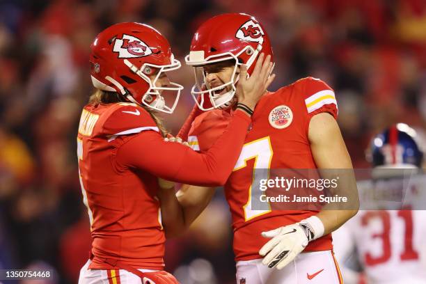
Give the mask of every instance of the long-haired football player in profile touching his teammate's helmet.
M 177 283 L 163 271 L 157 177 L 210 186 L 226 181 L 251 123 L 250 109 L 266 88 L 269 62 L 258 64 L 256 78 L 245 80 L 237 94 L 250 109 L 233 113 L 226 130 L 233 135 L 224 134 L 205 153 L 164 141 L 154 111 L 171 113 L 182 86 L 166 74 L 180 63 L 161 33 L 139 23 L 110 26 L 93 41 L 90 63 L 97 90 L 81 113 L 77 155 L 93 241 L 79 283 Z M 166 91 L 175 93 L 171 104 Z

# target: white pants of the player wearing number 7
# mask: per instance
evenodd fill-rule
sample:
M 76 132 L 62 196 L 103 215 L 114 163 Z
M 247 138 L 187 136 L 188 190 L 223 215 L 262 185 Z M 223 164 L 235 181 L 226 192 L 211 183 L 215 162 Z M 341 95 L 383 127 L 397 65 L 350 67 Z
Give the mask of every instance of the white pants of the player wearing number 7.
M 300 253 L 281 270 L 262 259 L 237 262 L 237 284 L 342 284 L 332 251 Z

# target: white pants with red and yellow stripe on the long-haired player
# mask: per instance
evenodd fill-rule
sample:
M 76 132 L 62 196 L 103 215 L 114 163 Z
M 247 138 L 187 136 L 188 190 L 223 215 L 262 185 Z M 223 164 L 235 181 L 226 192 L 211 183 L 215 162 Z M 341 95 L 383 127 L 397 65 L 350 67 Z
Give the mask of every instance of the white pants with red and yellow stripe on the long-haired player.
M 90 260 L 80 269 L 79 284 L 141 284 L 139 276 L 124 269 L 88 269 Z M 139 269 L 142 272 L 156 270 Z

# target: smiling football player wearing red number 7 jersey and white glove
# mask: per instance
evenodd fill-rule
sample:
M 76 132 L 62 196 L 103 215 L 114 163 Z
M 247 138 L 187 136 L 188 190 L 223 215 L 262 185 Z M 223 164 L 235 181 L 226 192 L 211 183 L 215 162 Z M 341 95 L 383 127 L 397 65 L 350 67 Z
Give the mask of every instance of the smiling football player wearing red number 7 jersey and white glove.
M 191 93 L 200 110 L 191 112 L 178 136 L 200 152 L 214 145 L 238 105 L 235 93 L 239 84 L 253 75 L 254 66 L 264 56 L 274 62 L 267 32 L 254 17 L 223 14 L 203 23 L 185 58 L 194 66 L 196 84 Z M 243 72 L 243 66 L 248 72 Z M 356 214 L 358 195 L 337 114 L 333 90 L 313 77 L 275 92 L 265 91 L 256 106 L 244 147 L 225 184 L 240 283 L 307 283 L 314 279 L 315 283 L 341 283 L 331 232 Z M 344 210 L 324 210 L 326 206 L 321 210 L 308 206 L 274 210 L 271 203 L 255 207 L 253 197 L 262 196 L 265 190 L 259 181 L 280 168 L 346 169 L 340 173 L 345 175 L 345 187 L 338 186 L 335 193 L 347 196 L 351 204 Z M 318 172 L 322 178 L 336 178 L 334 173 Z M 212 189 L 207 188 L 184 186 L 178 192 L 180 204 L 187 210 L 187 223 L 211 196 Z

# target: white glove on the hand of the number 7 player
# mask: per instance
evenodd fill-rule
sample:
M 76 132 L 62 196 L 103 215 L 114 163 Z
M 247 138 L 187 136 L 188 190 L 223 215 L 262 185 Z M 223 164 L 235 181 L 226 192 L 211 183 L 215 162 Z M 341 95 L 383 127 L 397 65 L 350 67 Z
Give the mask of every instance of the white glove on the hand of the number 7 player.
M 262 232 L 262 237 L 272 238 L 260 248 L 259 254 L 264 256 L 262 263 L 277 269 L 292 262 L 309 242 L 306 230 L 299 223 Z

